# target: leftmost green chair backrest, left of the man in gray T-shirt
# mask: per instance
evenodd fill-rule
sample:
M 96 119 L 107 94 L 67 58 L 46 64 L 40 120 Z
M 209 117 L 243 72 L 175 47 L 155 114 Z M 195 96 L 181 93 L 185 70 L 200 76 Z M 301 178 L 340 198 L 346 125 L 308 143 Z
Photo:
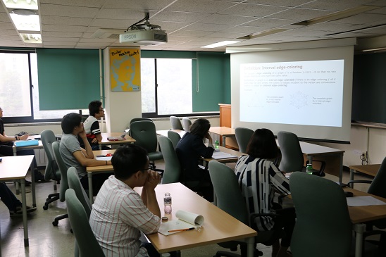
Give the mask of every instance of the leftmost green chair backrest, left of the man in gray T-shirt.
M 52 151 L 52 143 L 57 141 L 55 134 L 52 130 L 43 130 L 42 133 L 40 133 L 40 136 L 42 138 L 44 152 L 48 159 L 44 178 L 45 180 L 61 180 L 59 168 L 58 165 L 56 165 L 54 152 Z

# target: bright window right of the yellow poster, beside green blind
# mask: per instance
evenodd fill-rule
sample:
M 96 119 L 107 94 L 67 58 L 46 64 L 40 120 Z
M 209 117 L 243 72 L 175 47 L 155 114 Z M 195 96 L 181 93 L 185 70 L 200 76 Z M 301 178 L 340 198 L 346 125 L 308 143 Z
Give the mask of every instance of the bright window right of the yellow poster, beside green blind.
M 141 58 L 142 113 L 192 113 L 192 59 Z

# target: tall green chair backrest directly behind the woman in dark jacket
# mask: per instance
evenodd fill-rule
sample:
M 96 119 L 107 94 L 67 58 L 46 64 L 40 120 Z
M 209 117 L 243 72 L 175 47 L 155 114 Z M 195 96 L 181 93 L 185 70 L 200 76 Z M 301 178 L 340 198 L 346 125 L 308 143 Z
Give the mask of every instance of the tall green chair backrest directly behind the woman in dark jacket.
M 176 133 L 177 134 L 177 133 Z M 175 183 L 180 181 L 181 165 L 172 142 L 168 137 L 159 137 L 159 146 L 165 161 L 165 171 L 162 176 L 162 184 Z

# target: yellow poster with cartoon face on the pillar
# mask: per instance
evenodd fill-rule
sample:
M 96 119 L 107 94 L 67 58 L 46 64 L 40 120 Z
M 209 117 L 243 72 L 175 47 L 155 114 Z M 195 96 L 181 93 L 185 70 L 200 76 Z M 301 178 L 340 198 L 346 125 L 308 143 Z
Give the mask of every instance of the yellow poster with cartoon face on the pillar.
M 110 49 L 111 91 L 140 91 L 140 49 Z

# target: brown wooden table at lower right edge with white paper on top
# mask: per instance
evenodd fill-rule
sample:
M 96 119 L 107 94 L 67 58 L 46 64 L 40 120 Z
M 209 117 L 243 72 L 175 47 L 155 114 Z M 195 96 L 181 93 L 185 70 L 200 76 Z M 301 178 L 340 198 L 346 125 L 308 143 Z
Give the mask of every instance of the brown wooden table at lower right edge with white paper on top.
M 373 194 L 368 194 L 366 192 L 361 192 L 356 189 L 345 187 L 344 191 L 352 192 L 354 196 L 373 196 L 376 199 L 379 199 L 380 201 L 384 201 L 386 203 L 385 198 L 375 196 Z M 349 214 L 351 222 L 354 224 L 354 231 L 356 232 L 355 256 L 361 257 L 363 232 L 365 232 L 366 230 L 366 225 L 363 224 L 363 222 L 386 218 L 386 204 L 376 206 L 349 206 Z

